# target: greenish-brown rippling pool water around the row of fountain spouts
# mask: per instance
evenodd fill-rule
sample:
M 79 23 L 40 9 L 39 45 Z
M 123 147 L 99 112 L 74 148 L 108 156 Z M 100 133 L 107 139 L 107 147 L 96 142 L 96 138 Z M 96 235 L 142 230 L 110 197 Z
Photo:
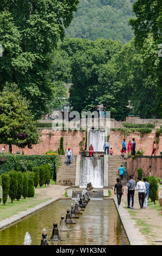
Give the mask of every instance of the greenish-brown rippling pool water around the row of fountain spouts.
M 48 239 L 51 237 L 53 222 L 60 224 L 61 215 L 66 216 L 72 200 L 59 200 L 47 208 L 24 218 L 22 221 L 0 231 L 0 245 L 23 245 L 28 231 L 32 245 L 40 245 L 43 228 Z M 60 232 L 65 241 L 58 245 L 129 245 L 120 217 L 113 200 L 90 200 L 83 215 L 73 219 L 76 224 L 67 225 L 71 231 Z

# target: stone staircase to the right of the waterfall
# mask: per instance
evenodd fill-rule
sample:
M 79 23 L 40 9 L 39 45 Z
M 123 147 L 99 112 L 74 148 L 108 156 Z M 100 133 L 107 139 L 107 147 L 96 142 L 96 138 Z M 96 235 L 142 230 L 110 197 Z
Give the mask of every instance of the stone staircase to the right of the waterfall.
M 109 165 L 108 165 L 108 186 L 114 186 L 116 184 L 116 179 L 120 178 L 119 172 L 117 171 L 119 167 L 123 166 L 124 168 L 124 175 L 122 184 L 123 186 L 126 186 L 127 184 L 127 157 L 126 160 L 123 158 L 120 159 L 119 156 L 109 156 Z

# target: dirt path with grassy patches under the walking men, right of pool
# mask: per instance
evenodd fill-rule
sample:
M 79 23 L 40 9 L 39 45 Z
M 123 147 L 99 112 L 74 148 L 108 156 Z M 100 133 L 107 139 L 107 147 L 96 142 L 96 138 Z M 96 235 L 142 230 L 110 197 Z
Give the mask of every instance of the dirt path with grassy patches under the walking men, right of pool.
M 114 197 L 114 191 L 111 190 L 111 193 Z M 127 209 L 128 216 L 135 221 L 136 227 L 138 227 L 139 231 L 145 235 L 148 245 L 162 245 L 162 216 L 160 214 L 161 210 L 158 207 L 159 203 L 155 205 L 155 208 L 158 209 L 156 210 L 152 208 L 153 203 L 149 200 L 147 209 L 140 210 L 138 191 L 135 191 L 134 210 L 129 210 L 127 208 L 125 187 L 121 202 L 122 206 Z

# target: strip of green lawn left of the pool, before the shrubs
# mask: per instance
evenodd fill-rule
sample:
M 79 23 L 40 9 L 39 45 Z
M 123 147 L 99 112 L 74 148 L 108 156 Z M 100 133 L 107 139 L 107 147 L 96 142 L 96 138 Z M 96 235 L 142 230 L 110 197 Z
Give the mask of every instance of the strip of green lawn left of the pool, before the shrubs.
M 29 208 L 32 208 L 38 204 L 46 202 L 51 198 L 46 199 L 37 199 L 38 195 L 35 194 L 34 197 L 27 197 L 26 199 L 21 198 L 19 201 L 14 200 L 14 203 L 11 203 L 10 198 L 7 200 L 7 203 L 3 205 L 1 202 L 0 204 L 0 221 L 4 218 L 11 217 L 15 214 L 18 214 L 20 211 L 26 211 Z

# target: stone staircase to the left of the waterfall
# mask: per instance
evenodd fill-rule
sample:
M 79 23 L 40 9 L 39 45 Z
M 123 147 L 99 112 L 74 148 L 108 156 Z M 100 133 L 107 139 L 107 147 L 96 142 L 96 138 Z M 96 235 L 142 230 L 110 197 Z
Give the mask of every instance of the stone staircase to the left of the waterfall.
M 76 181 L 76 156 L 71 159 L 71 164 L 66 166 L 65 155 L 60 155 L 61 165 L 57 170 L 57 185 L 73 186 Z

